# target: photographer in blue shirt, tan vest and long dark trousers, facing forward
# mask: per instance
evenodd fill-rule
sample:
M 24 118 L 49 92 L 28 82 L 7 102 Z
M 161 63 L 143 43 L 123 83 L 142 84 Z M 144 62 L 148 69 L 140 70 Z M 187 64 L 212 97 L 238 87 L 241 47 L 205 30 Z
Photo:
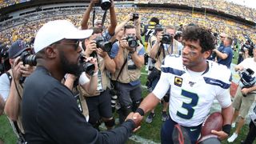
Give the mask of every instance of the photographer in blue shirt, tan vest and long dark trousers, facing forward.
M 118 102 L 121 105 L 120 123 L 133 110 L 136 110 L 142 101 L 142 87 L 139 77 L 144 64 L 144 47 L 136 38 L 136 28 L 127 25 L 124 28 L 124 37 L 115 42 L 111 50 L 111 58 L 116 63 L 116 72 L 112 79 L 116 80 Z

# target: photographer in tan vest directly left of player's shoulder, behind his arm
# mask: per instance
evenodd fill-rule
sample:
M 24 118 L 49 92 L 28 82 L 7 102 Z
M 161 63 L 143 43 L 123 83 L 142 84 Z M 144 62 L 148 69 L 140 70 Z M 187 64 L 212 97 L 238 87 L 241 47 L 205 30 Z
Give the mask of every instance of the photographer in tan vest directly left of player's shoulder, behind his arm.
M 150 50 L 150 57 L 154 58 L 156 61 L 154 64 L 154 69 L 148 76 L 148 81 L 151 83 L 152 90 L 159 81 L 161 75 L 161 64 L 166 55 L 177 55 L 181 54 L 182 44 L 174 39 L 176 29 L 174 26 L 166 26 L 165 35 L 164 29 L 159 29 L 157 33 L 157 40 L 154 42 L 152 49 Z M 165 37 L 165 39 L 163 38 Z M 168 107 L 169 97 L 168 94 L 163 98 L 163 108 L 162 108 L 162 121 L 166 121 L 168 115 L 166 113 Z M 146 118 L 146 122 L 152 122 L 154 118 L 154 110 L 151 110 L 149 116 Z

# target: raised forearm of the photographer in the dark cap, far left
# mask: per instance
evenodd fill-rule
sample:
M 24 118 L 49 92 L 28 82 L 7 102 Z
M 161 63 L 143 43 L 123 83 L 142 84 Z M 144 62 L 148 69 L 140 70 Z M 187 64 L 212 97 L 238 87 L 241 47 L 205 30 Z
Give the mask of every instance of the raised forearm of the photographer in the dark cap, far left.
M 18 85 L 18 82 L 16 82 Z M 10 94 L 6 100 L 5 113 L 12 120 L 18 119 L 18 111 L 21 99 L 19 98 L 18 91 L 15 87 L 14 80 L 11 82 Z

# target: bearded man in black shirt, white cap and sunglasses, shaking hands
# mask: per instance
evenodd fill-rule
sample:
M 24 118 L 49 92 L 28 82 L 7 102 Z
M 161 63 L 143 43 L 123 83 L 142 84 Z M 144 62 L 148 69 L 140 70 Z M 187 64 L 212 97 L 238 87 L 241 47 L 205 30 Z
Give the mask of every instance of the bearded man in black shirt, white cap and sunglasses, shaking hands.
M 78 39 L 92 30 L 78 30 L 71 22 L 47 22 L 34 41 L 37 69 L 26 79 L 22 118 L 28 143 L 125 143 L 138 120 L 131 118 L 115 128 L 98 132 L 82 115 L 72 92 L 61 81 L 78 75 L 81 47 Z

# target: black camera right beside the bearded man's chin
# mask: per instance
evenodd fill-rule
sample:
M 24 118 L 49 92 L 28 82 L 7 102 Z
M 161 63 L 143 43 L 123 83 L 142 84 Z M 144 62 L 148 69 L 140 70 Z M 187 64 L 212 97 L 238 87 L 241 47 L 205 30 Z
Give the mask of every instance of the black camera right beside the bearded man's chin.
M 90 63 L 90 62 L 85 62 L 86 58 L 81 56 L 80 57 L 80 60 L 79 60 L 79 63 L 80 63 L 80 69 L 81 71 L 85 71 L 86 74 L 89 74 L 89 75 L 93 75 L 94 74 L 94 69 L 95 69 L 95 66 L 93 63 Z

